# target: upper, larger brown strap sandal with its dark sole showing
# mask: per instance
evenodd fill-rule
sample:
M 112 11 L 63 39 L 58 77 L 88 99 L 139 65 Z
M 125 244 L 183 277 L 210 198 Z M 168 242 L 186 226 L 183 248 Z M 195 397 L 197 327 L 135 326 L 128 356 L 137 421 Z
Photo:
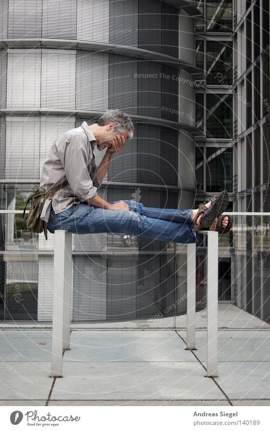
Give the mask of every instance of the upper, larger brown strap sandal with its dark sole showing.
M 210 208 L 207 208 L 204 204 L 199 204 L 198 212 L 192 220 L 194 226 L 197 224 L 196 221 L 201 213 L 203 213 L 199 221 L 201 226 L 205 229 L 211 226 L 215 219 L 226 210 L 229 203 L 228 192 L 226 190 L 221 191 L 211 198 L 211 202 Z

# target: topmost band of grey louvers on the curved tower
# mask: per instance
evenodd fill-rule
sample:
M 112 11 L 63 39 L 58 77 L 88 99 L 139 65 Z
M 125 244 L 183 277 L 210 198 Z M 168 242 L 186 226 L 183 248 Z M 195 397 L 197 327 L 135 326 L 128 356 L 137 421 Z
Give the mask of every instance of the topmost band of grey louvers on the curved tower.
M 3 38 L 108 42 L 178 57 L 179 11 L 158 0 L 2 0 L 1 3 Z

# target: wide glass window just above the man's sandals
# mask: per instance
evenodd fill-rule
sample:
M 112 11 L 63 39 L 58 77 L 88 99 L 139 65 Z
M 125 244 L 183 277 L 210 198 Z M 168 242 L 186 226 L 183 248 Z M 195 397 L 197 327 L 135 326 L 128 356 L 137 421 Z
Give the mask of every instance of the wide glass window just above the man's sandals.
M 206 149 L 207 191 L 232 191 L 232 148 Z

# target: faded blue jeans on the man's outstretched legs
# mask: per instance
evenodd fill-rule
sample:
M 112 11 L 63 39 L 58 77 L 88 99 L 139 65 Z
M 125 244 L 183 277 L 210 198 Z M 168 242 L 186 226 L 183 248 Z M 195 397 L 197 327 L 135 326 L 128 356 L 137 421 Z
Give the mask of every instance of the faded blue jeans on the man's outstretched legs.
M 73 204 L 67 210 L 51 212 L 47 228 L 69 230 L 73 234 L 130 234 L 180 244 L 196 243 L 196 231 L 191 224 L 191 209 L 175 210 L 146 208 L 136 201 L 122 200 L 129 210 L 105 210 L 87 202 Z M 113 201 L 115 204 L 120 201 Z

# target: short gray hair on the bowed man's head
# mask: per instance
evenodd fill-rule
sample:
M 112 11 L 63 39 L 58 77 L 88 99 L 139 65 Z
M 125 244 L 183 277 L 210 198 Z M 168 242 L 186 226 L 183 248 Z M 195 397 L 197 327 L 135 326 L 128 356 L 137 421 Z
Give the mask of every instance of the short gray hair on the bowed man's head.
M 126 129 L 128 130 L 128 138 L 130 139 L 133 137 L 134 126 L 131 118 L 124 111 L 121 111 L 121 109 L 108 109 L 104 114 L 102 114 L 102 116 L 98 118 L 96 123 L 99 126 L 105 126 L 106 124 L 114 123 L 116 132 L 123 133 Z

